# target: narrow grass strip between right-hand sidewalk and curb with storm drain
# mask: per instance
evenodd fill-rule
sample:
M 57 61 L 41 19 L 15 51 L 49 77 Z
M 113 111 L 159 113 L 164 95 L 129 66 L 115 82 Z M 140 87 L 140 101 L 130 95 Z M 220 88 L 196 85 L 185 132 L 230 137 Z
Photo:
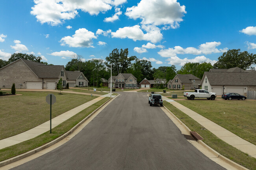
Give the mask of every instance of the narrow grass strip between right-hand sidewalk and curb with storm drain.
M 163 101 L 165 107 L 167 107 L 178 119 L 180 119 L 191 131 L 196 131 L 204 139 L 202 140 L 208 146 L 216 150 L 221 155 L 227 157 L 228 159 L 242 165 L 250 170 L 256 170 L 256 159 L 250 157 L 248 154 L 241 152 L 240 150 L 234 148 L 233 146 L 225 143 L 213 133 L 208 130 L 202 130 L 203 126 L 194 121 L 191 117 L 174 107 L 167 101 Z M 198 103 L 199 104 L 199 103 Z M 216 107 L 217 108 L 217 107 Z M 255 121 L 254 121 L 255 122 Z M 228 121 L 226 121 L 228 123 Z

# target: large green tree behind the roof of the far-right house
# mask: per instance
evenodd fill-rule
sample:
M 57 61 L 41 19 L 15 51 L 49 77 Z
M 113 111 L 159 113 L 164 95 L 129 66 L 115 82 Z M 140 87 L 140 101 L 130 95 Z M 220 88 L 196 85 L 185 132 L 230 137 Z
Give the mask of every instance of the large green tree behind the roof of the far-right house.
M 252 64 L 256 64 L 255 54 L 247 51 L 241 52 L 240 49 L 230 49 L 218 58 L 218 61 L 213 64 L 213 68 L 229 69 L 239 67 L 241 69 L 249 69 Z

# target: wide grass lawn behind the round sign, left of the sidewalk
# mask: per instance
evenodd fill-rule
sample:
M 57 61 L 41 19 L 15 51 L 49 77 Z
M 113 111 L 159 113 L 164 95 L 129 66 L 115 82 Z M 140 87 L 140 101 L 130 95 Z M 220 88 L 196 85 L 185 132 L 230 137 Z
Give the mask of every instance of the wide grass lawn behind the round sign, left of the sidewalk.
M 22 95 L 0 98 L 0 139 L 25 132 L 50 120 L 50 105 L 46 102 L 49 93 L 56 96 L 56 103 L 52 105 L 52 118 L 96 98 L 72 93 L 60 95 L 47 91 L 16 92 Z

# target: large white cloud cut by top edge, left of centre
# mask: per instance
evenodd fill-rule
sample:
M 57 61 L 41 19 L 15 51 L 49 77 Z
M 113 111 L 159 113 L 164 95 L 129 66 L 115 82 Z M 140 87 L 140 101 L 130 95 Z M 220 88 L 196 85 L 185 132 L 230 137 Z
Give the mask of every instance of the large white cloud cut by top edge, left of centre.
M 126 0 L 34 0 L 35 5 L 30 12 L 41 24 L 52 26 L 62 24 L 78 15 L 78 10 L 90 15 L 106 12 L 112 5 L 121 5 Z

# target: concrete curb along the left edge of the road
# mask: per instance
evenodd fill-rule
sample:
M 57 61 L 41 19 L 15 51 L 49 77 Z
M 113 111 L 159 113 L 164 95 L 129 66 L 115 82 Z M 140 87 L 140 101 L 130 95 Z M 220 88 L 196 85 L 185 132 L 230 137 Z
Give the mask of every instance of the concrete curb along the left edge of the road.
M 119 95 L 119 94 L 118 94 Z M 115 97 L 117 97 L 118 95 L 116 95 Z M 53 144 L 56 144 L 58 143 L 59 141 L 61 141 L 62 139 L 64 139 L 65 137 L 67 137 L 70 133 L 74 132 L 74 130 L 76 130 L 83 122 L 85 122 L 87 119 L 89 119 L 89 117 L 91 117 L 95 112 L 97 112 L 100 108 L 102 108 L 102 106 L 104 106 L 105 104 L 107 104 L 110 100 L 114 99 L 115 97 L 113 98 L 110 98 L 108 101 L 106 101 L 104 104 L 102 104 L 100 107 L 96 108 L 96 110 L 94 110 L 92 113 L 90 113 L 87 117 L 85 117 L 82 121 L 80 121 L 78 124 L 76 124 L 73 128 L 71 128 L 68 132 L 64 133 L 63 135 L 61 135 L 60 137 L 58 137 L 57 139 L 54 139 L 53 141 L 50 141 L 49 143 L 46 143 L 45 145 L 43 146 L 39 146 L 38 148 L 35 148 L 31 151 L 28 151 L 24 154 L 21 154 L 21 155 L 18 155 L 18 156 L 15 156 L 15 157 L 12 157 L 10 159 L 7 159 L 5 161 L 2 161 L 0 162 L 0 167 L 1 166 L 4 166 L 4 165 L 7 165 L 9 163 L 13 163 L 15 161 L 18 161 L 22 158 L 25 158 L 25 157 L 28 157 L 30 155 L 33 155 L 37 152 L 40 152 L 41 150 L 45 149 L 45 148 L 48 148 L 49 146 L 52 146 Z

